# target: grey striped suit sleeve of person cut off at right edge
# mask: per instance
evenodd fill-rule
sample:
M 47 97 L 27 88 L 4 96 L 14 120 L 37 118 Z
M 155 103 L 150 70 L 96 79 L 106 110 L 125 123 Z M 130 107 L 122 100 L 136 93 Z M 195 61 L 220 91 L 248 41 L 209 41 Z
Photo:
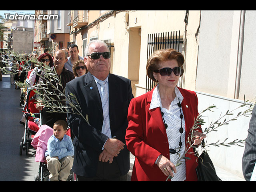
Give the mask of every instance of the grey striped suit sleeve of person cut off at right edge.
M 244 155 L 242 158 L 242 170 L 246 181 L 250 181 L 256 161 L 256 106 L 252 110 L 248 136 L 245 140 Z

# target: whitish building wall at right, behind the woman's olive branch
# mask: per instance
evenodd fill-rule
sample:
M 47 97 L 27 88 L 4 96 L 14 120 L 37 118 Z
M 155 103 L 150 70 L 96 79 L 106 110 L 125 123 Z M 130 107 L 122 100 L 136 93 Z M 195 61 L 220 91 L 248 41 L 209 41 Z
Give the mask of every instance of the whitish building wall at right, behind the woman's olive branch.
M 244 97 L 255 98 L 255 16 L 254 10 L 201 11 L 195 90 L 200 109 L 212 104 L 218 107 L 206 114 L 206 122 L 239 107 Z M 234 115 L 246 109 L 239 108 Z M 245 139 L 249 120 L 250 116 L 243 116 L 229 122 L 209 134 L 208 142 Z M 209 152 L 216 165 L 243 178 L 244 147 L 211 147 Z

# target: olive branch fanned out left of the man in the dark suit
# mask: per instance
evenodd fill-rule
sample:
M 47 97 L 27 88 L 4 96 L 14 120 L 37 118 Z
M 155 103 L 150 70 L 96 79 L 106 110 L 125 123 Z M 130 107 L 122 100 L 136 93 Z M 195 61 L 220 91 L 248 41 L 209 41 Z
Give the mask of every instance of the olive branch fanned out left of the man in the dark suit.
M 31 72 L 39 76 L 38 83 L 33 86 L 26 81 L 15 82 L 20 88 L 25 88 L 28 91 L 33 90 L 36 93 L 36 99 L 38 101 L 35 103 L 39 103 L 40 106 L 46 107 L 47 112 L 50 113 L 68 112 L 70 114 L 82 116 L 82 118 L 84 118 L 84 120 L 89 124 L 88 116 L 83 116 L 76 96 L 72 93 L 69 93 L 67 96 L 65 95 L 65 88 L 62 86 L 61 77 L 58 76 L 54 67 L 51 68 L 50 66 L 44 65 L 44 63 L 39 62 L 33 57 L 30 60 L 26 60 L 21 54 L 16 54 L 14 52 L 12 53 L 12 56 L 19 61 L 25 62 L 25 65 L 22 66 L 23 72 L 31 70 L 28 64 L 30 62 L 35 63 L 35 67 L 42 71 L 41 73 L 39 73 L 38 70 Z M 10 68 L 14 69 L 14 72 L 13 70 L 10 70 Z M 7 74 L 18 73 L 15 67 L 8 64 L 6 64 L 6 67 L 3 67 L 1 70 Z M 63 104 L 63 102 L 68 102 L 68 105 Z

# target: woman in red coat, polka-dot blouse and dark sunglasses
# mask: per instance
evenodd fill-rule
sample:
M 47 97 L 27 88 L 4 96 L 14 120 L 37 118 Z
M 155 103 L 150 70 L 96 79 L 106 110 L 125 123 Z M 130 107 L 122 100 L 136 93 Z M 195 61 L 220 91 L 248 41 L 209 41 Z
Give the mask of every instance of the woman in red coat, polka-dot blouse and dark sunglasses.
M 128 108 L 126 144 L 135 156 L 132 181 L 196 181 L 196 156 L 190 148 L 181 165 L 187 138 L 198 116 L 194 91 L 178 88 L 184 57 L 173 49 L 158 50 L 147 62 L 147 75 L 158 84 L 150 92 L 131 100 Z M 206 137 L 194 132 L 193 145 Z M 173 170 L 173 171 L 172 171 Z

